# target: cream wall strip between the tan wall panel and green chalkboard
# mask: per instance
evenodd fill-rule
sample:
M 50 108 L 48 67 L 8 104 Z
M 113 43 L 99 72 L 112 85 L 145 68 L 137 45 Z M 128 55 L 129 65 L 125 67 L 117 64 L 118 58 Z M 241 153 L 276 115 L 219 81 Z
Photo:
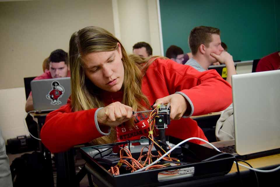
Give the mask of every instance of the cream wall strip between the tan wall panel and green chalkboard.
M 161 55 L 156 0 L 113 0 L 113 12 L 116 37 L 128 53 L 135 43 L 145 41 L 153 55 Z

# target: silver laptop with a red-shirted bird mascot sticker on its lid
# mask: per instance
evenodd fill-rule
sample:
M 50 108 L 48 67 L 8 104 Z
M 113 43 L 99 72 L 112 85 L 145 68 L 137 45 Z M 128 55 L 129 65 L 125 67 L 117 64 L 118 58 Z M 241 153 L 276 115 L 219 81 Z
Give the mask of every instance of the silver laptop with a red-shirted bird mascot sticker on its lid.
M 70 77 L 31 81 L 34 110 L 50 112 L 67 103 L 71 94 Z

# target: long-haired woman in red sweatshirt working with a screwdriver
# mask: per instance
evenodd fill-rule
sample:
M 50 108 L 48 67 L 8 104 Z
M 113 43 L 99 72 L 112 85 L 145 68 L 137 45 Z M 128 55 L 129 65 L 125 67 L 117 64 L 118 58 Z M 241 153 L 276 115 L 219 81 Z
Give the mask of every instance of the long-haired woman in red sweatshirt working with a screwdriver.
M 47 115 L 41 130 L 42 142 L 52 153 L 85 142 L 148 137 L 148 114 L 133 116 L 132 111 L 162 103 L 171 106 L 166 135 L 207 140 L 189 117 L 224 110 L 232 101 L 231 86 L 217 72 L 198 72 L 164 57 L 128 56 L 120 41 L 100 27 L 72 34 L 69 62 L 71 97 Z

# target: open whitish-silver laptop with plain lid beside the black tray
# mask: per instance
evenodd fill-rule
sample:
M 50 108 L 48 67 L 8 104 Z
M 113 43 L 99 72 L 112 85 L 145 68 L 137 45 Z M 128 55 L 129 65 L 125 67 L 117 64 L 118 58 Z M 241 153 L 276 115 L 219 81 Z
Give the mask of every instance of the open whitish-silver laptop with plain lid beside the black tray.
M 232 98 L 235 141 L 213 145 L 245 160 L 280 153 L 280 70 L 232 75 Z

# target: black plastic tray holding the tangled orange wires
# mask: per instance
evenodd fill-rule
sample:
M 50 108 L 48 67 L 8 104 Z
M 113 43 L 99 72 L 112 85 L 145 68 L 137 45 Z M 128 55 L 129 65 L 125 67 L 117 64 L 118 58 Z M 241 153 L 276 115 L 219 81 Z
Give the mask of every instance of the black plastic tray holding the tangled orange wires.
M 182 140 L 169 136 L 169 142 L 173 144 L 178 144 Z M 102 146 L 115 146 L 115 145 L 123 145 L 127 142 L 118 142 L 118 143 L 111 143 L 105 144 Z M 142 172 L 134 172 L 134 173 L 125 173 L 120 175 L 112 175 L 101 166 L 96 159 L 92 158 L 92 147 L 98 146 L 90 146 L 90 147 L 83 147 L 81 148 L 82 157 L 88 162 L 88 164 L 94 169 L 96 176 L 99 178 L 104 179 L 112 186 L 159 186 L 165 185 L 170 183 L 179 183 L 183 181 L 190 181 L 195 179 L 201 179 L 206 177 L 213 177 L 227 174 L 234 161 L 234 156 L 232 155 L 221 155 L 213 160 L 203 161 L 207 158 L 213 157 L 215 155 L 220 154 L 220 152 L 216 150 L 212 150 L 210 148 L 200 146 L 195 143 L 186 142 L 181 145 L 182 153 L 184 157 L 184 162 L 186 160 L 189 161 L 189 164 L 179 165 L 179 166 L 171 166 L 161 169 L 151 169 L 148 171 Z M 173 156 L 172 156 L 173 157 Z M 170 171 L 175 169 L 181 169 L 181 171 L 185 171 L 189 174 L 180 174 L 178 176 L 174 176 L 171 178 L 158 178 L 160 172 Z M 194 168 L 194 172 L 192 172 Z M 160 175 L 162 176 L 162 175 Z

